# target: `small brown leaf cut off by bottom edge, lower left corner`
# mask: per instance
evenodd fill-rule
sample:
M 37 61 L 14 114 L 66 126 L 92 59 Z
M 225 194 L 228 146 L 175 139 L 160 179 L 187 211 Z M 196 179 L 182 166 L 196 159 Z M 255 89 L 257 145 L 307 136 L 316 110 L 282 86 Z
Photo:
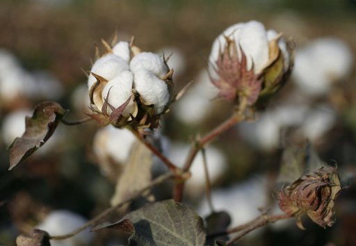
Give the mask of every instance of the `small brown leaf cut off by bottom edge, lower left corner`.
M 21 234 L 16 238 L 17 246 L 51 246 L 49 234 L 40 229 L 34 229 L 31 236 Z

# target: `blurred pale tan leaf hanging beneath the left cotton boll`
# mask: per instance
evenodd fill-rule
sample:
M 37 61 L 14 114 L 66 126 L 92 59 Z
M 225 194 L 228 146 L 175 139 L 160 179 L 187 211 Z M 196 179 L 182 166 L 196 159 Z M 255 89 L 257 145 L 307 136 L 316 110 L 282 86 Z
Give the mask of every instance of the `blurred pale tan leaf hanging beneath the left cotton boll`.
M 131 147 L 129 161 L 119 177 L 111 205 L 115 206 L 145 188 L 152 180 L 151 167 L 151 151 L 143 143 L 136 142 Z

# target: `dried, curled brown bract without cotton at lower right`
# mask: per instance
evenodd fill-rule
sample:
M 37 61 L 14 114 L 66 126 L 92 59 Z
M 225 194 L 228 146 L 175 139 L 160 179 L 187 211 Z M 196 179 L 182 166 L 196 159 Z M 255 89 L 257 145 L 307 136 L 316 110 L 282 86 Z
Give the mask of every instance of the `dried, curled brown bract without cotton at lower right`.
M 284 213 L 297 218 L 301 229 L 300 217 L 307 214 L 321 227 L 331 227 L 334 223 L 334 200 L 341 190 L 336 167 L 321 167 L 286 186 L 278 194 L 278 204 Z

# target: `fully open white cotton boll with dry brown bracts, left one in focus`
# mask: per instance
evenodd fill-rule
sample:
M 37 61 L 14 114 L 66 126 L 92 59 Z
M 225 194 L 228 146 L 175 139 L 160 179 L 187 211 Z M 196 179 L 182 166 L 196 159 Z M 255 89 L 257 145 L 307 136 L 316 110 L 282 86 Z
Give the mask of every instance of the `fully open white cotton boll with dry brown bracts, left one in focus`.
M 107 52 L 92 65 L 88 78 L 92 117 L 115 127 L 156 128 L 174 99 L 173 71 L 164 57 L 141 52 L 132 43 L 103 44 Z

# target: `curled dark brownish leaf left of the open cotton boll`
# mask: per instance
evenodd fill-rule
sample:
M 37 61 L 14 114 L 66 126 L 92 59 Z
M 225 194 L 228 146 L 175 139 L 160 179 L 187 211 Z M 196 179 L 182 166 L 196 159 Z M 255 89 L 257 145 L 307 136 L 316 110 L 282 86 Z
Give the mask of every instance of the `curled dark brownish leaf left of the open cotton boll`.
M 44 145 L 66 113 L 67 110 L 54 101 L 44 101 L 35 106 L 32 117 L 25 119 L 25 133 L 10 145 L 9 170 Z

